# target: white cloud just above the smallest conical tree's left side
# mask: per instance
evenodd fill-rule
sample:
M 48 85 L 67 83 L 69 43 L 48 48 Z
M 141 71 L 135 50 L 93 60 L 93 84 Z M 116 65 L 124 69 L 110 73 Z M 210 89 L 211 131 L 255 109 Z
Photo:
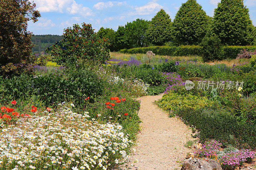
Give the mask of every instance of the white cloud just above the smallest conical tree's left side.
M 132 15 L 150 15 L 159 11 L 159 9 L 163 8 L 162 5 L 157 4 L 156 2 L 148 2 L 145 5 L 135 8 L 135 13 L 130 13 Z

